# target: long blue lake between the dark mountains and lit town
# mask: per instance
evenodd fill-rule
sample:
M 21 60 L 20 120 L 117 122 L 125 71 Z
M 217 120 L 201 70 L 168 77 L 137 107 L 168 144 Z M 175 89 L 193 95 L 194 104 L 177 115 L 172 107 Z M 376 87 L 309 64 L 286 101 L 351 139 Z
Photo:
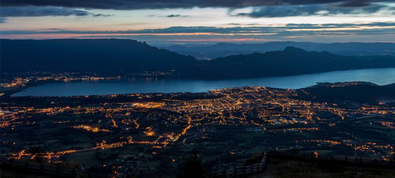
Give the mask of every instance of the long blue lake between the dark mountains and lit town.
M 175 80 L 175 79 L 136 79 L 77 81 L 49 83 L 28 87 L 13 96 L 74 96 L 105 95 L 124 93 L 172 93 L 172 92 L 206 92 L 211 89 L 265 86 L 275 88 L 298 89 L 315 85 L 317 82 L 364 81 L 378 85 L 395 83 L 395 68 L 361 69 L 314 73 L 306 75 L 262 77 L 240 80 Z

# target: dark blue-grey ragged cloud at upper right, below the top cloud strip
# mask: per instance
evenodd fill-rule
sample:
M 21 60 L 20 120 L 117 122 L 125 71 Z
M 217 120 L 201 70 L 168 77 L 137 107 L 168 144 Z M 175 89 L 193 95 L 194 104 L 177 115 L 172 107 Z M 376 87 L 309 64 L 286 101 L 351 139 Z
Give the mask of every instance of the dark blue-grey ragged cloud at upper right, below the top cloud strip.
M 262 6 L 255 8 L 249 13 L 232 14 L 234 16 L 249 17 L 286 17 L 286 16 L 307 16 L 307 15 L 337 15 L 337 14 L 371 14 L 383 8 L 388 8 L 390 13 L 394 13 L 395 9 L 382 4 L 374 4 L 366 7 L 351 8 L 337 7 L 333 5 L 318 4 L 304 6 Z M 231 13 L 231 12 L 230 12 Z

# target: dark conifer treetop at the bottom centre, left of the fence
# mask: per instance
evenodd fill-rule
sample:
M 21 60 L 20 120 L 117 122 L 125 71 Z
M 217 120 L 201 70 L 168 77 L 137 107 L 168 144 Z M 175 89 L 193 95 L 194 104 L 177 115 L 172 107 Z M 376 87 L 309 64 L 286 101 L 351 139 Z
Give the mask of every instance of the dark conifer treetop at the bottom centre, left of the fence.
M 189 159 L 184 165 L 184 168 L 179 173 L 178 177 L 188 177 L 188 178 L 201 178 L 206 177 L 206 171 L 202 165 L 202 160 L 200 154 L 196 149 L 191 151 Z

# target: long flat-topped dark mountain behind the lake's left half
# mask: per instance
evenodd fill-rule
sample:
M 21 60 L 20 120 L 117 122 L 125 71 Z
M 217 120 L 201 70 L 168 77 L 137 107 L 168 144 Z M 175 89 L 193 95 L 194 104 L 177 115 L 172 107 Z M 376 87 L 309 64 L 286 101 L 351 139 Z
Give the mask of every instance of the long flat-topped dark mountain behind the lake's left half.
M 130 39 L 1 39 L 2 71 L 170 71 L 196 63 L 165 49 Z

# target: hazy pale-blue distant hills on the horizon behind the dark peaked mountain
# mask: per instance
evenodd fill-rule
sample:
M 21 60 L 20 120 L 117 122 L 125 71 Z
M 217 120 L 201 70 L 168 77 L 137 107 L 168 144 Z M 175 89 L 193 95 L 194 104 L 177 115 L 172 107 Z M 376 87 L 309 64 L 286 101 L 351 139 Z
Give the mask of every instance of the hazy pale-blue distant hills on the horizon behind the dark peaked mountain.
M 287 46 L 301 48 L 307 51 L 328 51 L 341 55 L 395 55 L 395 43 L 310 43 L 310 42 L 268 42 L 261 44 L 231 44 L 218 43 L 202 46 L 167 46 L 161 47 L 196 58 L 217 58 L 235 54 L 251 54 L 282 50 Z

